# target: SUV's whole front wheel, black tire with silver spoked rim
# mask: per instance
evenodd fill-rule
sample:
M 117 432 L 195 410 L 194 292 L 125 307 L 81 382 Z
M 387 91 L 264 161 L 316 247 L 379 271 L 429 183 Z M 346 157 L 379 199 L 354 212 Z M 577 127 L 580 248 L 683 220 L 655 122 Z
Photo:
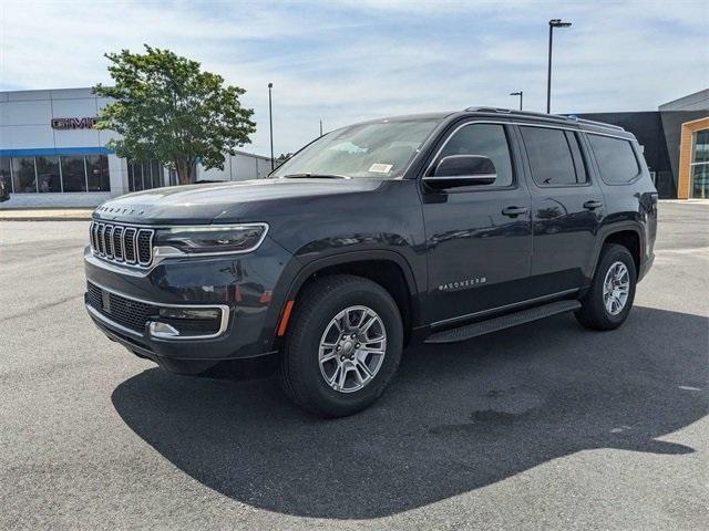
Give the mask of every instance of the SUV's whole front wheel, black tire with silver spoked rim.
M 352 415 L 382 394 L 402 344 L 401 315 L 387 290 L 360 277 L 323 277 L 298 296 L 279 379 L 310 413 Z

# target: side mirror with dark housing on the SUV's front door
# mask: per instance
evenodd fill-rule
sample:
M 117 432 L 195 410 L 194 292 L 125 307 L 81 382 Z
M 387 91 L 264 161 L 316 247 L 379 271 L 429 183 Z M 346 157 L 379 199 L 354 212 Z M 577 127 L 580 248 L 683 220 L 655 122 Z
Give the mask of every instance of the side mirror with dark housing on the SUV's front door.
M 432 176 L 423 177 L 433 189 L 492 185 L 497 178 L 495 165 L 481 155 L 450 155 L 435 166 Z

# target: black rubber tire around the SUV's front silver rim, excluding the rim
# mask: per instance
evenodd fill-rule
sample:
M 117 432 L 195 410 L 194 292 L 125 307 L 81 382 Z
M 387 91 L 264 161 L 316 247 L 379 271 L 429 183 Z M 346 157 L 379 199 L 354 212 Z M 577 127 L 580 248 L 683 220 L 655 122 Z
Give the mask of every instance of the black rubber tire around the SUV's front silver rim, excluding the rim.
M 381 319 L 387 334 L 383 361 L 374 377 L 351 393 L 335 391 L 320 373 L 319 346 L 330 321 L 342 310 L 363 305 Z M 298 295 L 288 324 L 278 379 L 298 406 L 320 417 L 343 417 L 371 405 L 393 377 L 403 345 L 403 327 L 397 303 L 381 285 L 349 274 L 322 277 Z

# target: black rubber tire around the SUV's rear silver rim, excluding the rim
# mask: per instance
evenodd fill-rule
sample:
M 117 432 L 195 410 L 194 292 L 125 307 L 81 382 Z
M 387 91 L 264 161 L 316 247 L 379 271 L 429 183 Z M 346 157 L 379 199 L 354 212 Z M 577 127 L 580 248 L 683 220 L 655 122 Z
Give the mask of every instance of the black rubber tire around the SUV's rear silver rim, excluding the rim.
M 628 299 L 623 310 L 616 315 L 612 314 L 604 303 L 604 281 L 606 274 L 613 264 L 623 262 L 628 270 L 629 289 Z M 582 308 L 575 312 L 576 320 L 590 330 L 614 330 L 620 326 L 630 313 L 633 301 L 635 300 L 635 285 L 637 283 L 637 272 L 635 270 L 635 260 L 627 248 L 607 243 L 600 251 L 598 266 L 594 280 L 590 283 L 588 292 L 582 299 Z

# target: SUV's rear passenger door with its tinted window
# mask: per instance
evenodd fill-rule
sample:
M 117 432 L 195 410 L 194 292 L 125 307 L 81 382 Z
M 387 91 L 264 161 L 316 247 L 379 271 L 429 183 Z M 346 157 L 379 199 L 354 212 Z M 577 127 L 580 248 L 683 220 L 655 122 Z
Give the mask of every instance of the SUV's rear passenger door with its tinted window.
M 571 292 L 589 282 L 603 192 L 577 131 L 532 124 L 517 131 L 532 196 L 531 295 Z

